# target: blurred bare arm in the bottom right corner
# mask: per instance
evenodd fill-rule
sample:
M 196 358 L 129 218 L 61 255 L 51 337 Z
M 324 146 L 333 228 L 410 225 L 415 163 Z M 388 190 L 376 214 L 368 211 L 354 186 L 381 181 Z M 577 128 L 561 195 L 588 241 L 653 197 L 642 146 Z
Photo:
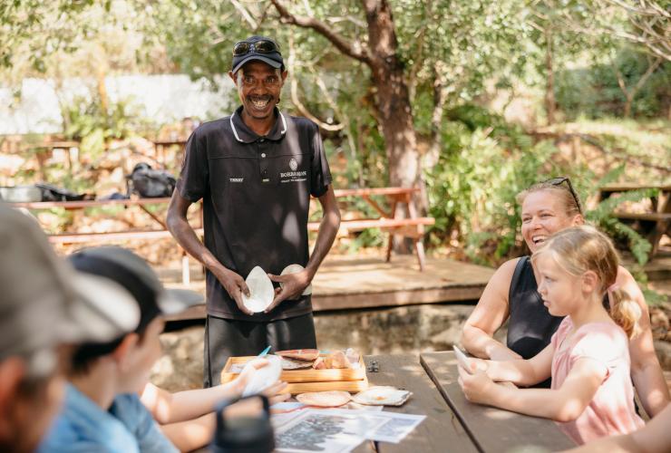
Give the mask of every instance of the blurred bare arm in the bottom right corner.
M 671 451 L 671 405 L 666 406 L 647 425 L 626 436 L 614 436 L 589 442 L 573 453 L 665 453 Z

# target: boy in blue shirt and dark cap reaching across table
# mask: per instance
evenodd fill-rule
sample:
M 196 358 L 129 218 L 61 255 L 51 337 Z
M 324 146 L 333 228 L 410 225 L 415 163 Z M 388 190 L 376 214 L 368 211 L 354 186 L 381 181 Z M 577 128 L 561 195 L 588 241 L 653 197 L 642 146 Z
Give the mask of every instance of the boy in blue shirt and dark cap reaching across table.
M 256 368 L 206 390 L 170 394 L 151 385 L 151 368 L 161 353 L 161 315 L 183 310 L 190 294 L 165 290 L 150 265 L 118 246 L 86 248 L 68 261 L 80 273 L 116 286 L 120 300 L 140 309 L 140 318 L 111 342 L 83 342 L 74 348 L 63 410 L 39 451 L 167 453 L 207 445 L 214 432 L 211 412 L 216 403 L 238 396 Z M 255 366 L 265 364 L 259 361 Z M 276 382 L 267 394 L 284 387 L 286 383 Z

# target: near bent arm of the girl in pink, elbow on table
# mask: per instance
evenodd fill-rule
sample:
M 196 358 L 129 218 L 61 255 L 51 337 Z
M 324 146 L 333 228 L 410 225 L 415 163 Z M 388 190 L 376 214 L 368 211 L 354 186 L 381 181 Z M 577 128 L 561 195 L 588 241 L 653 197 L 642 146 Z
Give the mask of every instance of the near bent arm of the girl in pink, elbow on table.
M 593 359 L 575 362 L 558 390 L 516 389 L 496 384 L 483 372 L 468 374 L 459 369 L 459 383 L 466 399 L 520 414 L 571 421 L 577 419 L 594 398 L 607 375 L 606 367 Z

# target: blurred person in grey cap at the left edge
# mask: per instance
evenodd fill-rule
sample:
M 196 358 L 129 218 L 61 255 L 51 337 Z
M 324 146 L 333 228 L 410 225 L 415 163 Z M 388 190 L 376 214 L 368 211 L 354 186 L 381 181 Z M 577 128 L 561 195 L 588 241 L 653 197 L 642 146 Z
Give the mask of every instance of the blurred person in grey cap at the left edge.
M 111 310 L 115 288 L 73 272 L 34 218 L 2 202 L 0 288 L 0 451 L 34 451 L 63 399 L 69 345 L 111 340 L 140 312 Z

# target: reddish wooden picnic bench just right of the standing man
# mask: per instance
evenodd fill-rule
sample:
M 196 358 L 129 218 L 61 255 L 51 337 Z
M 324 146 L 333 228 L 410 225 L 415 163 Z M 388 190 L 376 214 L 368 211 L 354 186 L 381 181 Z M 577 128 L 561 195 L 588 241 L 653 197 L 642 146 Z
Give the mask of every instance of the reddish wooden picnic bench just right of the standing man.
M 418 217 L 417 209 L 413 202 L 413 195 L 419 192 L 419 188 L 347 188 L 336 189 L 335 198 L 344 200 L 346 198 L 361 198 L 373 207 L 379 215 L 375 218 L 344 219 L 340 222 L 338 234 L 349 235 L 352 232 L 363 231 L 367 228 L 380 228 L 389 232 L 387 240 L 386 261 L 392 259 L 394 249 L 394 236 L 409 237 L 413 240 L 414 249 L 417 253 L 417 262 L 421 271 L 425 265 L 425 255 L 422 239 L 424 226 L 435 224 L 433 217 Z M 372 197 L 383 198 L 389 205 L 384 208 Z M 400 217 L 401 209 L 407 209 L 408 217 Z M 309 222 L 308 231 L 317 231 L 319 222 Z

